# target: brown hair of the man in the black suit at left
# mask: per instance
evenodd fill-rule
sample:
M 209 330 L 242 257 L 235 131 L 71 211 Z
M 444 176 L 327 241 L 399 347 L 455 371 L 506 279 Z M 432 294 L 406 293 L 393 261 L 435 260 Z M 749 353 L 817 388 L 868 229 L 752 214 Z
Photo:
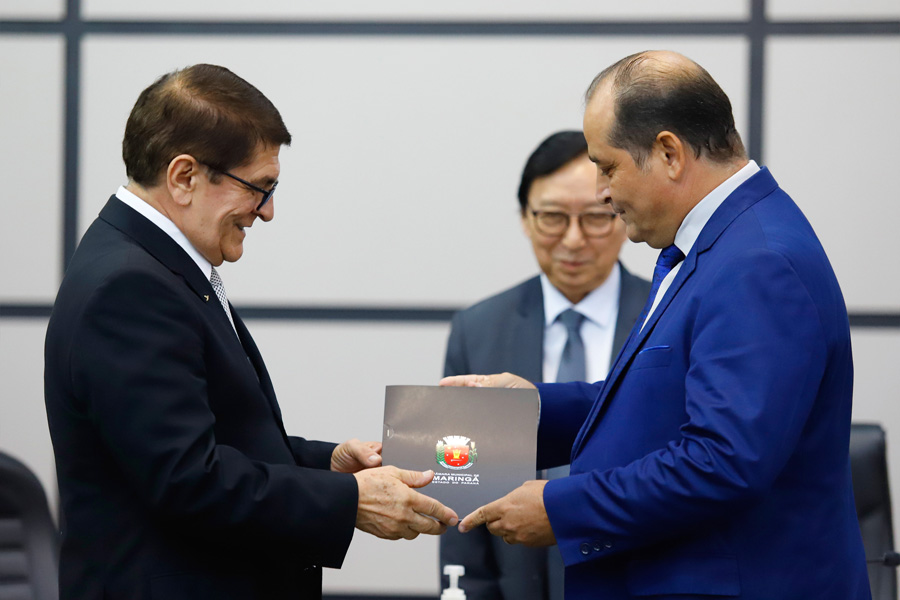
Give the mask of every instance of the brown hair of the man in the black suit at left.
M 260 145 L 289 146 L 291 134 L 262 92 L 225 67 L 194 65 L 141 92 L 125 124 L 122 159 L 129 179 L 152 187 L 179 154 L 216 171 L 250 162 Z M 219 174 L 213 172 L 211 178 Z

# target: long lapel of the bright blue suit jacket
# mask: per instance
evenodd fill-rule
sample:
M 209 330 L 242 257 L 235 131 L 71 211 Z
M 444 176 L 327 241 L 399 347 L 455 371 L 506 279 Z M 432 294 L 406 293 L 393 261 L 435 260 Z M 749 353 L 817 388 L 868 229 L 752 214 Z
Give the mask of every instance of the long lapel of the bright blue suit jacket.
M 610 371 L 609 377 L 607 377 L 606 381 L 603 383 L 600 393 L 594 400 L 594 405 L 591 407 L 588 418 L 585 420 L 581 427 L 581 431 L 578 432 L 578 436 L 575 438 L 575 443 L 572 446 L 573 459 L 581 449 L 587 434 L 593 429 L 603 406 L 614 393 L 618 382 L 624 376 L 628 366 L 634 359 L 635 354 L 640 350 L 644 341 L 647 339 L 647 336 L 650 335 L 650 332 L 653 331 L 656 323 L 659 322 L 669 304 L 671 304 L 672 299 L 678 295 L 678 292 L 684 286 L 685 282 L 696 270 L 698 256 L 712 248 L 716 240 L 719 239 L 722 233 L 728 228 L 732 221 L 738 217 L 738 215 L 777 188 L 778 184 L 775 182 L 775 179 L 769 173 L 769 170 L 764 167 L 750 179 L 741 184 L 728 196 L 728 198 L 725 199 L 722 205 L 716 209 L 709 221 L 703 227 L 703 230 L 700 232 L 697 241 L 694 243 L 694 247 L 691 248 L 690 253 L 685 257 L 681 269 L 679 269 L 678 274 L 675 276 L 675 280 L 672 282 L 672 285 L 669 286 L 669 289 L 666 290 L 666 293 L 662 297 L 662 300 L 660 300 L 656 310 L 650 315 L 643 329 L 635 334 L 634 339 L 627 342 L 623 351 L 616 358 L 616 362 Z

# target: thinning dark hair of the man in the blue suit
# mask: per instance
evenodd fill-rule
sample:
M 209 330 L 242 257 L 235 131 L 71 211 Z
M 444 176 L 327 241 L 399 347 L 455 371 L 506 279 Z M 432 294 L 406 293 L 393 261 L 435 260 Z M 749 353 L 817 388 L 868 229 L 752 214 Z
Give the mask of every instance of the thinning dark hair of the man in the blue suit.
M 615 123 L 608 142 L 627 150 L 643 166 L 656 136 L 671 131 L 694 150 L 714 162 L 746 157 L 734 126 L 728 96 L 700 65 L 661 61 L 653 53 L 626 56 L 600 72 L 585 98 L 613 77 Z

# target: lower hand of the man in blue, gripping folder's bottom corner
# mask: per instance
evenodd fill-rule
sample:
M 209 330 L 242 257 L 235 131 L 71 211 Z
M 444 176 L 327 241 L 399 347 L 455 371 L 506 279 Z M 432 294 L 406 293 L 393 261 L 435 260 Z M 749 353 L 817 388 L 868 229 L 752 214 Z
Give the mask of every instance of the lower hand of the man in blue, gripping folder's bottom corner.
M 487 525 L 507 544 L 552 546 L 556 536 L 544 508 L 546 481 L 526 481 L 499 500 L 476 509 L 459 524 L 460 533 Z

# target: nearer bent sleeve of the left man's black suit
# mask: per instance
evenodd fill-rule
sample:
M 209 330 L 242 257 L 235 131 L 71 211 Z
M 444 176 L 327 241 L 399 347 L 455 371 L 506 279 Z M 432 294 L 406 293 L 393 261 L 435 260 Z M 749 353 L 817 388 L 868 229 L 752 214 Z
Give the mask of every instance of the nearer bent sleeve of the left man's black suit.
M 95 290 L 71 338 L 74 406 L 158 519 L 289 544 L 315 564 L 340 566 L 356 518 L 355 479 L 253 460 L 216 442 L 205 358 L 212 340 L 185 293 L 141 271 Z M 310 462 L 321 462 L 324 449 Z

